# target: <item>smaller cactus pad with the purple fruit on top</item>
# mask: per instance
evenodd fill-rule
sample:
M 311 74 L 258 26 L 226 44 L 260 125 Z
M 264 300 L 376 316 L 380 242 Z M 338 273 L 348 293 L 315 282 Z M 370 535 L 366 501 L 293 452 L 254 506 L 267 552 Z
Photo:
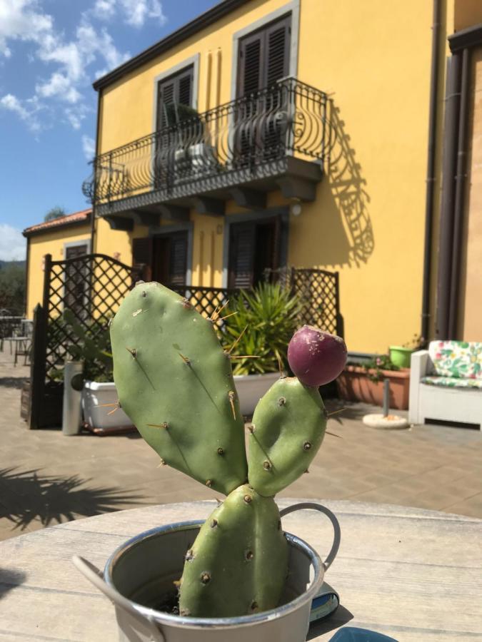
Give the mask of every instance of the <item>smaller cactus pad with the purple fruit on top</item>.
M 318 389 L 296 377 L 278 379 L 253 414 L 249 436 L 249 484 L 273 496 L 306 472 L 326 429 L 326 410 Z

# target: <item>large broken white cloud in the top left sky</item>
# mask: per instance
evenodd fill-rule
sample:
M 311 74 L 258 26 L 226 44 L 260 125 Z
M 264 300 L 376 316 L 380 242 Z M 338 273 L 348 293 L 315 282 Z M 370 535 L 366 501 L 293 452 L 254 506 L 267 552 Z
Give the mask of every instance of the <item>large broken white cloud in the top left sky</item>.
M 80 14 L 74 36 L 69 39 L 56 27 L 53 17 L 43 11 L 46 0 L 0 0 L 0 63 L 2 58 L 6 61 L 15 56 L 11 43 L 21 40 L 34 45 L 33 51 L 25 54 L 28 60 L 50 67 L 44 77 L 37 79 L 31 97 L 20 98 L 11 93 L 0 96 L 0 109 L 15 113 L 31 131 L 49 126 L 49 117 L 52 120 L 58 116 L 59 109 L 61 120 L 74 129 L 81 128 L 90 111 L 86 107 L 86 91 L 91 91 L 92 79 L 129 58 L 129 53 L 119 51 L 105 27 L 94 24 L 95 19 L 111 19 L 119 14 L 126 24 L 136 28 L 149 19 L 159 24 L 166 21 L 159 0 L 91 2 L 91 9 Z M 40 115 L 46 122 L 41 122 Z

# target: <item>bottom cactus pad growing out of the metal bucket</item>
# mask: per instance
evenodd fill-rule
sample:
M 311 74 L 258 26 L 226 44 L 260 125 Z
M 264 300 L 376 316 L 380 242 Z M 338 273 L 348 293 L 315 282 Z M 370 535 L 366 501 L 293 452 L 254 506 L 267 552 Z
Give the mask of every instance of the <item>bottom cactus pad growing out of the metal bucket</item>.
M 206 520 L 186 553 L 179 612 L 209 618 L 275 608 L 287 563 L 278 506 L 251 486 L 240 486 Z

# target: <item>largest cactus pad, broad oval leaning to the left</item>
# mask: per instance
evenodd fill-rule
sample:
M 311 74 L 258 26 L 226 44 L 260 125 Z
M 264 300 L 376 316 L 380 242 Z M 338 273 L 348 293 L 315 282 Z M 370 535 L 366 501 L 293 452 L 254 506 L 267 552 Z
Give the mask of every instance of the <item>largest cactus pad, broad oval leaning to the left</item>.
M 243 417 L 211 321 L 156 282 L 111 322 L 121 407 L 164 463 L 229 494 L 247 479 Z

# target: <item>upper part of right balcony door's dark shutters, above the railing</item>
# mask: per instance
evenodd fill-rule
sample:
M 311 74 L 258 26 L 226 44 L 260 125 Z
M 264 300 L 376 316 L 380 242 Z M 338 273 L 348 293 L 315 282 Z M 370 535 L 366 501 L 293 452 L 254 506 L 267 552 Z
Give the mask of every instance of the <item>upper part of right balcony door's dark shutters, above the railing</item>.
M 291 14 L 239 41 L 237 95 L 272 86 L 289 73 Z

